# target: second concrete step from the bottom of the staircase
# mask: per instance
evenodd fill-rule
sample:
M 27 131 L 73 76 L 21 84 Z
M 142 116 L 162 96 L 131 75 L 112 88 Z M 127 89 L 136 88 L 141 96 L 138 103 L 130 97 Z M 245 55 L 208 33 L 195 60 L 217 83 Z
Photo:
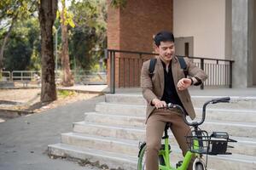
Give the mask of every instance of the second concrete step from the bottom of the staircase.
M 254 141 L 252 141 L 252 139 L 235 139 L 238 140 L 238 143 L 230 144 L 235 147 L 234 149 L 230 149 L 230 152 L 247 156 L 256 155 L 255 139 Z M 116 151 L 129 155 L 137 154 L 137 146 L 139 144 L 138 140 L 116 139 L 113 137 L 102 137 L 88 135 L 85 133 L 62 133 L 61 142 L 64 144 L 95 148 L 97 150 Z M 170 138 L 170 144 L 172 145 L 172 148 L 179 151 L 177 142 L 172 135 Z

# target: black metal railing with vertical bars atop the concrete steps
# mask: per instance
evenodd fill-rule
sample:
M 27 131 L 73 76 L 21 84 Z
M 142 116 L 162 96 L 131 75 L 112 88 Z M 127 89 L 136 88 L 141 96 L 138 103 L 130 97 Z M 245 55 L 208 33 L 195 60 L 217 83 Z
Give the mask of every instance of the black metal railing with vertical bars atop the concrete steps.
M 115 86 L 119 88 L 131 88 L 140 86 L 140 75 L 143 62 L 158 55 L 154 53 L 105 49 L 105 57 L 110 63 L 110 93 L 115 93 Z M 232 64 L 231 59 L 211 59 L 189 57 L 195 65 L 207 72 L 208 79 L 201 85 L 224 86 L 232 88 Z M 118 65 L 116 65 L 118 63 Z M 115 77 L 118 77 L 116 79 Z

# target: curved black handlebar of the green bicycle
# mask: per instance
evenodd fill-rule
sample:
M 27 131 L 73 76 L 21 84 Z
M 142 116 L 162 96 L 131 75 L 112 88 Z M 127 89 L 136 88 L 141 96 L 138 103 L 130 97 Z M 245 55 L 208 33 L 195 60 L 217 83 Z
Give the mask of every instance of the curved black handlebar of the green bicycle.
M 169 103 L 166 105 L 167 109 L 172 109 L 172 108 L 177 108 L 179 111 L 182 112 L 183 115 L 183 120 L 184 122 L 189 125 L 189 126 L 199 126 L 203 122 L 205 122 L 206 119 L 206 110 L 207 110 L 207 105 L 208 104 L 217 104 L 217 103 L 229 103 L 230 102 L 230 97 L 224 97 L 224 98 L 216 98 L 216 99 L 211 99 L 204 103 L 203 108 L 202 108 L 202 118 L 200 122 L 188 122 L 186 119 L 186 112 L 184 111 L 183 107 L 180 105 L 173 105 L 172 103 Z

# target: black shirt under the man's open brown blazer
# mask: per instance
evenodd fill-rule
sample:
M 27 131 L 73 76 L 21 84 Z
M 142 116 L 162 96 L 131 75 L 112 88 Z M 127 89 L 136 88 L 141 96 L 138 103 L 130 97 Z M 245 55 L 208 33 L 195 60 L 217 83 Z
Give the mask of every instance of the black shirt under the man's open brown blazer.
M 164 67 L 164 72 L 165 72 L 165 89 L 164 89 L 164 94 L 163 94 L 163 97 L 161 100 L 166 101 L 166 104 L 172 103 L 175 105 L 181 105 L 183 107 L 183 104 L 177 95 L 175 84 L 173 82 L 172 60 L 170 61 L 168 72 L 166 71 L 166 64 L 162 60 L 161 60 L 161 62 L 162 62 L 162 65 Z

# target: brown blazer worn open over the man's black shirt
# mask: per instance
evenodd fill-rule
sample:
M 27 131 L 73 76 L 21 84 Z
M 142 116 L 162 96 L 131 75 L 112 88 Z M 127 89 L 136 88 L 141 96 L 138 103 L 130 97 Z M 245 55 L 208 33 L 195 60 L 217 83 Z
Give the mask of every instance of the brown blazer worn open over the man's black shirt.
M 141 73 L 141 88 L 143 88 L 143 98 L 147 100 L 147 114 L 146 114 L 146 122 L 148 120 L 148 117 L 151 115 L 151 113 L 154 111 L 155 107 L 150 105 L 152 99 L 158 98 L 161 99 L 164 94 L 164 86 L 165 86 L 165 76 L 164 76 L 164 69 L 163 65 L 161 64 L 160 57 L 156 57 L 157 61 L 154 67 L 154 76 L 152 79 L 149 77 L 149 63 L 150 59 L 145 61 L 143 63 L 142 73 Z M 189 77 L 197 77 L 201 79 L 201 82 L 205 81 L 207 79 L 207 74 L 202 71 L 200 68 L 195 66 L 193 64 L 191 59 L 184 58 L 185 62 L 187 64 Z M 185 77 L 183 73 L 183 69 L 180 67 L 180 64 L 178 62 L 177 57 L 175 56 L 172 59 L 172 77 L 173 82 L 175 84 L 175 87 L 177 87 L 177 82 Z M 176 88 L 177 90 L 177 88 Z M 194 107 L 192 105 L 189 91 L 188 89 L 180 91 L 177 90 L 177 95 L 179 99 L 181 100 L 184 109 L 188 112 L 191 119 L 195 118 L 195 111 Z

